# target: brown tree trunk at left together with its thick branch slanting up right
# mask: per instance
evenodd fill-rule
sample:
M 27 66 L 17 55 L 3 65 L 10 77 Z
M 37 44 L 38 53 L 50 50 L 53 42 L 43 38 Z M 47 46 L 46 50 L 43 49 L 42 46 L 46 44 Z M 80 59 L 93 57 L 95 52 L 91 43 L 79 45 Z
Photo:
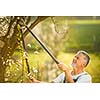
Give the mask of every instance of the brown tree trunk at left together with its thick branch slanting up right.
M 21 18 L 21 17 L 20 17 Z M 33 22 L 30 26 L 30 29 L 33 29 L 39 22 L 45 20 L 48 17 L 37 17 L 35 22 Z M 28 18 L 27 23 L 29 23 L 30 18 Z M 15 24 L 16 22 L 16 24 Z M 13 34 L 10 38 L 8 38 L 10 34 L 10 30 L 14 29 Z M 28 34 L 28 31 L 26 30 L 24 32 L 24 37 Z M 18 29 L 17 29 L 17 17 L 15 17 L 8 28 L 8 32 L 4 37 L 0 37 L 0 40 L 3 42 L 3 46 L 0 47 L 0 82 L 4 83 L 5 82 L 5 69 L 7 67 L 7 60 L 11 59 L 15 49 L 18 46 Z M 1 43 L 0 43 L 1 46 Z

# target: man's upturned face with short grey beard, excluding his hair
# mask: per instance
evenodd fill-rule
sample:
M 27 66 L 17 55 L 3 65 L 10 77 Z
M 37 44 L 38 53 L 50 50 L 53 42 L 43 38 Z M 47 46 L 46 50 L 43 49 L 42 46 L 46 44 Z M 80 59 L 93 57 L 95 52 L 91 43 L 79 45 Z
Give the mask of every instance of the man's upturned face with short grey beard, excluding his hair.
M 82 53 L 77 53 L 72 60 L 72 67 L 82 67 L 85 66 L 86 62 L 84 60 L 85 55 Z

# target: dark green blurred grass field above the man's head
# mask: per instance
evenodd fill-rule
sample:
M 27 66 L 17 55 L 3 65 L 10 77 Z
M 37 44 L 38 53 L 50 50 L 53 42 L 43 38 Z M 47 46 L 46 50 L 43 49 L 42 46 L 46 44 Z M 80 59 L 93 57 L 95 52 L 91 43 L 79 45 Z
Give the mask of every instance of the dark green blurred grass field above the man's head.
M 100 21 L 94 24 L 91 21 L 79 21 L 71 24 L 65 41 L 65 51 L 71 49 L 85 49 L 86 51 L 100 51 Z M 73 22 L 74 23 L 74 22 Z M 91 24 L 92 23 L 92 24 Z

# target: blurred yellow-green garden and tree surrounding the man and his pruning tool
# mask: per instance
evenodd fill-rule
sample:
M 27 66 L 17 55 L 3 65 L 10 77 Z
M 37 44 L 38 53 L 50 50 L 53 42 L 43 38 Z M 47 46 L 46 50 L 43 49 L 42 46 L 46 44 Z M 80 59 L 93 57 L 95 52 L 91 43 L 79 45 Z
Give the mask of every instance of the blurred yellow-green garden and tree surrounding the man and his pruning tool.
M 92 76 L 93 83 L 100 82 L 99 16 L 1 16 L 0 82 L 29 82 L 21 33 L 24 34 L 30 71 L 34 77 L 50 82 L 61 73 L 25 27 L 18 26 L 18 18 L 23 18 L 32 32 L 69 69 L 74 54 L 79 50 L 87 51 L 91 62 L 85 70 Z

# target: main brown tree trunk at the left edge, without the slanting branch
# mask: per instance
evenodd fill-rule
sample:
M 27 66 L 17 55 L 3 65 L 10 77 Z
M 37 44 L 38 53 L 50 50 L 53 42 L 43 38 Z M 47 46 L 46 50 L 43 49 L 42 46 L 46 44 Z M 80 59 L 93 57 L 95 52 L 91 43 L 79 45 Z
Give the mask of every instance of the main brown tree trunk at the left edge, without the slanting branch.
M 17 44 L 17 24 L 14 26 L 14 32 L 10 39 L 7 39 L 5 37 L 4 39 L 4 46 L 1 49 L 0 54 L 0 82 L 5 82 L 4 74 L 5 69 L 8 66 L 8 60 L 11 59 L 11 56 L 13 55 L 16 44 Z

